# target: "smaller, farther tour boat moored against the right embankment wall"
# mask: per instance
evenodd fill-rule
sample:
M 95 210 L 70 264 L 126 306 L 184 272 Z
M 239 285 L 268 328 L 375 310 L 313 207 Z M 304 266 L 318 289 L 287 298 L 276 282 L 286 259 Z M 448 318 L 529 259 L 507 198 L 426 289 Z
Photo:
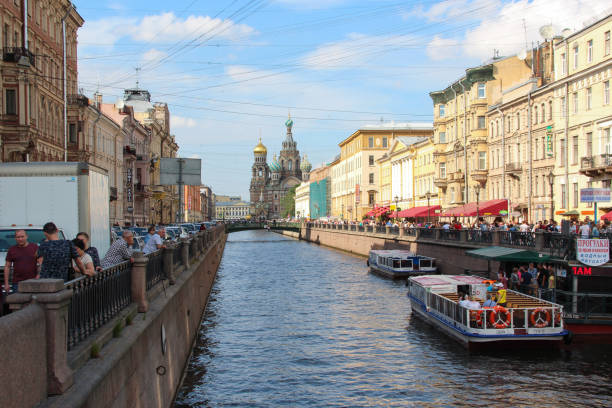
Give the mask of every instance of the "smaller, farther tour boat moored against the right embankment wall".
M 406 279 L 438 271 L 434 258 L 401 249 L 371 250 L 368 266 L 370 272 L 391 279 Z

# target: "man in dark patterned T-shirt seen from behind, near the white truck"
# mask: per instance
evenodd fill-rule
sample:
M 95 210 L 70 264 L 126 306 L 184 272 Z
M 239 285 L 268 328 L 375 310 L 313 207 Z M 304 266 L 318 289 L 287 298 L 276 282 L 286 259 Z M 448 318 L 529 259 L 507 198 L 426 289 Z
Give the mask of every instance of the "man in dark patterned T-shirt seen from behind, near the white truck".
M 37 256 L 41 262 L 40 277 L 68 280 L 72 272 L 72 260 L 82 274 L 85 266 L 79 259 L 72 242 L 59 239 L 59 231 L 54 223 L 48 222 L 43 226 L 46 241 L 38 246 Z

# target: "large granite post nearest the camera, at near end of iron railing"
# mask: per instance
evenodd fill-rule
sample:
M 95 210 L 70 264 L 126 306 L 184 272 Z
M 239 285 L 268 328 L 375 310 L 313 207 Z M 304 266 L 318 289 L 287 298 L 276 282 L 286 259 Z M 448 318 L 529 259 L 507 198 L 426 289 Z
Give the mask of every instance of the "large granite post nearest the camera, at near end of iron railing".
M 38 303 L 45 313 L 47 341 L 47 393 L 63 394 L 74 383 L 68 366 L 68 306 L 72 289 L 64 288 L 63 279 L 29 279 L 19 282 L 19 292 L 9 295 L 11 309 Z M 4 350 L 4 352 L 10 352 Z

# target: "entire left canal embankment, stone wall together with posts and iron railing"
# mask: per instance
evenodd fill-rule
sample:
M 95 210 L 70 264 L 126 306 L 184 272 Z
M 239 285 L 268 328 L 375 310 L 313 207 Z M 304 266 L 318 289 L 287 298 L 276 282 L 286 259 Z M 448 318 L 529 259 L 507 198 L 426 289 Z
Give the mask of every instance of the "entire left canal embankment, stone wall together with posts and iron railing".
M 32 279 L 0 317 L 4 407 L 168 407 L 225 248 L 223 226 L 70 282 Z

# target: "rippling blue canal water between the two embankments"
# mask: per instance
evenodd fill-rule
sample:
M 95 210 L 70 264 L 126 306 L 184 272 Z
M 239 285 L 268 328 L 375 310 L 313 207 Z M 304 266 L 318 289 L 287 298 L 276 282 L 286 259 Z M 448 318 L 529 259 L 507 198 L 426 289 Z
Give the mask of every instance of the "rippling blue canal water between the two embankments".
M 229 235 L 176 407 L 612 406 L 612 347 L 469 353 L 365 259 Z

